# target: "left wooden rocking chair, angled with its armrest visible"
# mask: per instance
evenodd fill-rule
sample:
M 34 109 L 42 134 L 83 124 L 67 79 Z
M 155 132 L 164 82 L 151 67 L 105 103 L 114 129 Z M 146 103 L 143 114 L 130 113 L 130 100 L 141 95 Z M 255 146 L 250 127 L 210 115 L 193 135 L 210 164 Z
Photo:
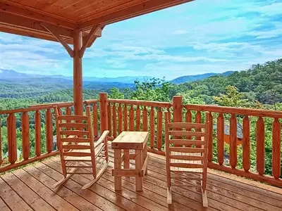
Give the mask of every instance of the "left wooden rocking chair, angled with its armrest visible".
M 52 188 L 61 186 L 73 174 L 92 174 L 93 180 L 82 189 L 92 186 L 102 176 L 109 163 L 107 135 L 94 142 L 90 106 L 86 107 L 85 115 L 61 115 L 55 106 L 57 145 L 61 155 L 63 179 Z M 92 172 L 75 172 L 78 168 L 92 168 Z

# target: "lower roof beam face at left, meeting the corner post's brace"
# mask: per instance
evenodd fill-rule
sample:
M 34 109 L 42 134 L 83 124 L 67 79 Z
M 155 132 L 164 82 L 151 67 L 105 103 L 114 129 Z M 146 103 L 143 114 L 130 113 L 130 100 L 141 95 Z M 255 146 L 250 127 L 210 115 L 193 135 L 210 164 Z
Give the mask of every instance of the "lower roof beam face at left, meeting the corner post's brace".
M 0 11 L 0 23 L 5 25 L 12 25 L 14 27 L 21 27 L 25 29 L 35 30 L 39 32 L 47 32 L 47 30 L 42 27 L 41 23 L 37 20 L 31 20 L 29 18 L 20 17 L 11 13 L 3 13 Z M 49 25 L 46 23 L 46 25 Z M 56 31 L 63 37 L 73 37 L 73 30 L 66 29 L 64 27 L 59 27 L 54 25 Z

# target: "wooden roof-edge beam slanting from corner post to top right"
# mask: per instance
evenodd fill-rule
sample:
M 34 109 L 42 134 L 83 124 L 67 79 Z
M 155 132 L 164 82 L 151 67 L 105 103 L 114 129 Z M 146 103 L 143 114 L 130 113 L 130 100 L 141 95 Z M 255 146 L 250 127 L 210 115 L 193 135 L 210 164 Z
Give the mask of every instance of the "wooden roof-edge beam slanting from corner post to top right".
M 135 6 L 130 6 L 128 8 L 124 8 L 121 11 L 117 11 L 115 13 L 110 13 L 108 15 L 104 15 L 99 18 L 94 18 L 93 20 L 89 20 L 85 23 L 80 24 L 80 29 L 85 30 L 89 29 L 93 25 L 108 25 L 111 23 L 116 23 L 121 20 L 126 20 L 128 18 L 133 18 L 139 15 L 143 15 L 146 13 L 151 13 L 153 11 L 159 11 L 164 8 L 168 8 L 171 6 L 176 6 L 178 4 L 183 4 L 189 1 L 194 0 L 151 0 L 142 4 L 137 4 Z

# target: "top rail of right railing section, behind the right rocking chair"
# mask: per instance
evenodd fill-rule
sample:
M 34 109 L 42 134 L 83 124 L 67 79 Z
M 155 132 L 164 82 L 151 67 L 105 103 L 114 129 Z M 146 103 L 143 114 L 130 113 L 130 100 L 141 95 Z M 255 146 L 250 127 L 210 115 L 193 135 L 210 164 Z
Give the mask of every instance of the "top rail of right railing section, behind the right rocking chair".
M 183 108 L 186 108 L 187 110 L 200 110 L 200 111 L 209 111 L 215 113 L 230 113 L 230 114 L 250 115 L 250 116 L 258 116 L 258 117 L 282 118 L 281 110 L 234 108 L 228 106 L 210 106 L 210 105 L 197 105 L 197 104 L 187 104 L 184 105 Z

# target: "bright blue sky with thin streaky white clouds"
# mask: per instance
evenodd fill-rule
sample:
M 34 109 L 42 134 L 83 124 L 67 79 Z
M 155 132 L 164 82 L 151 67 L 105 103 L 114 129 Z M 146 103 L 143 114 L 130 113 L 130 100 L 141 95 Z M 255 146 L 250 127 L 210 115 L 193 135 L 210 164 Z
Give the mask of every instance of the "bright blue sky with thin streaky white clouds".
M 245 70 L 282 58 L 282 1 L 196 0 L 108 25 L 83 59 L 83 75 L 173 79 Z M 0 32 L 0 68 L 73 75 L 63 47 Z

